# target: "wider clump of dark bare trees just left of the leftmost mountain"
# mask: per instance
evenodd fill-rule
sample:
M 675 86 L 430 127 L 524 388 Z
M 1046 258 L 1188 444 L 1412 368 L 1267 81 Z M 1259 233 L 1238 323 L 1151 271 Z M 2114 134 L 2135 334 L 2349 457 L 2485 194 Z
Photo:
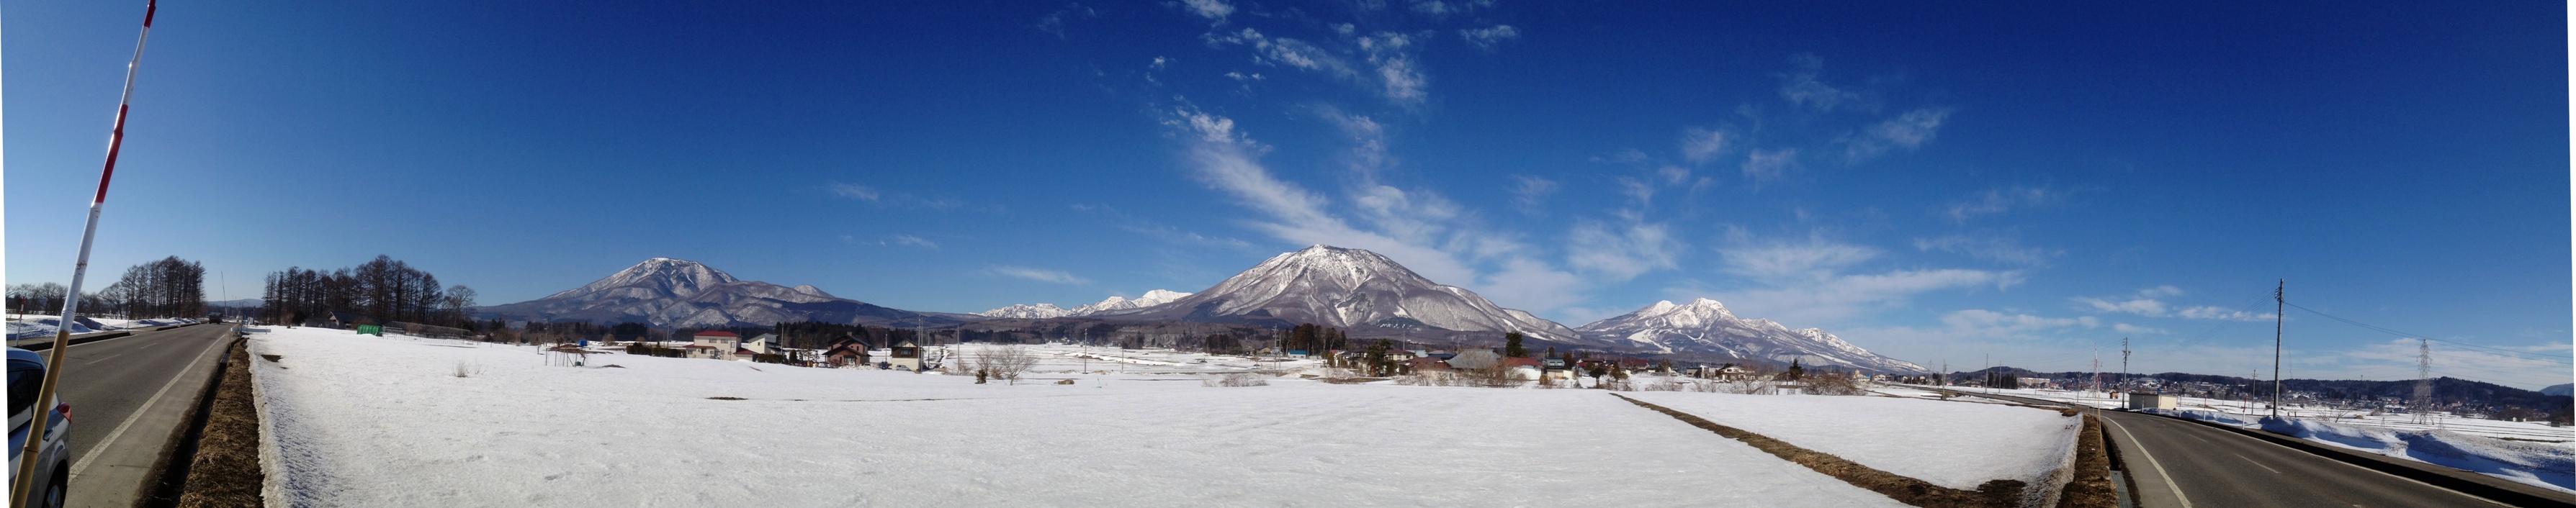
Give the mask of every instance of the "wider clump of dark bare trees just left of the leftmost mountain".
M 268 291 L 263 297 L 268 304 L 260 309 L 260 317 L 281 322 L 307 322 L 330 317 L 332 312 L 353 312 L 363 320 L 374 320 L 376 325 L 422 322 L 474 327 L 466 315 L 466 309 L 474 307 L 474 289 L 440 289 L 438 276 L 394 260 L 392 255 L 376 255 L 376 260 L 355 268 L 276 271 L 268 273 Z

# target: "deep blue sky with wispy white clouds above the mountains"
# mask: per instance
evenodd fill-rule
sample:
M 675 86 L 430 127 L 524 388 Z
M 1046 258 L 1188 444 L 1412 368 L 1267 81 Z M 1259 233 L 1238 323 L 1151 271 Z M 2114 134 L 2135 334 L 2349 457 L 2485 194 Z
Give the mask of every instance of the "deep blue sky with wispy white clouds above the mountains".
M 8 281 L 67 281 L 142 5 L 13 3 Z M 2269 291 L 2571 376 L 2563 5 L 173 3 L 95 266 L 644 258 L 902 309 L 1368 248 L 1582 325 L 1896 358 L 2269 364 Z M 240 278 L 242 284 L 229 284 Z M 2290 376 L 2414 343 L 2290 309 Z

